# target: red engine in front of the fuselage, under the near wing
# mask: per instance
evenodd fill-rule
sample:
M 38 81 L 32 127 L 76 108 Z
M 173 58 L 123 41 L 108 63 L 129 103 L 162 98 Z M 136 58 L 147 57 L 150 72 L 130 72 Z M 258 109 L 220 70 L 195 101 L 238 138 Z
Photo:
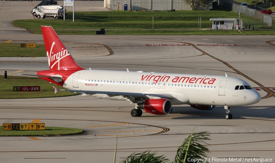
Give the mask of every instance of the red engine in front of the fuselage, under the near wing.
M 147 99 L 137 104 L 137 107 L 156 115 L 166 115 L 172 111 L 172 103 L 167 99 Z

